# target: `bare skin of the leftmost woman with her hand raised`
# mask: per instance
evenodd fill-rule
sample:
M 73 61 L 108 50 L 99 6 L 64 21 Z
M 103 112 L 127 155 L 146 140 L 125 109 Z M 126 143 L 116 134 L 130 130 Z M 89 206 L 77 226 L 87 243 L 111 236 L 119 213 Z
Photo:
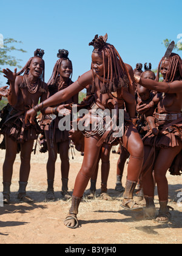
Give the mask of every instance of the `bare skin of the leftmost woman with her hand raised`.
M 39 57 L 33 57 L 29 66 L 29 81 L 30 86 L 38 83 L 39 76 L 44 69 L 44 62 Z M 35 94 L 30 93 L 27 88 L 20 88 L 23 82 L 23 76 L 16 75 L 10 69 L 2 71 L 4 76 L 10 82 L 11 93 L 8 96 L 8 102 L 20 113 L 24 113 L 27 108 L 33 107 L 38 104 L 39 99 L 44 101 L 47 98 L 47 93 L 36 91 Z M 46 87 L 46 84 L 45 84 Z M 6 154 L 3 165 L 3 182 L 11 183 L 13 174 L 13 163 L 15 162 L 18 141 L 13 140 L 7 134 L 5 136 Z M 30 173 L 30 155 L 32 154 L 34 140 L 30 139 L 21 143 L 21 166 L 19 170 L 19 181 L 27 183 Z M 19 193 L 18 198 L 24 197 L 24 193 Z M 29 200 L 29 199 L 28 199 Z M 32 201 L 32 199 L 30 199 Z

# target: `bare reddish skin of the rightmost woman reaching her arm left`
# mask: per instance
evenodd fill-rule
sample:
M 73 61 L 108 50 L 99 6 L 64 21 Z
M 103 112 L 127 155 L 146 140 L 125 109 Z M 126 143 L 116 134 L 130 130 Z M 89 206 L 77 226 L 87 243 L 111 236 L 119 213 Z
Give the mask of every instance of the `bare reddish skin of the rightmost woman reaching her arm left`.
M 167 71 L 169 69 L 169 61 L 163 60 L 161 63 L 160 72 L 163 79 L 166 78 Z M 181 78 L 180 78 L 181 79 Z M 144 79 L 141 77 L 139 82 L 140 85 L 146 87 L 150 90 L 155 90 L 164 93 L 163 97 L 158 102 L 158 113 L 180 113 L 182 108 L 182 81 L 179 79 L 178 72 L 175 74 L 174 82 L 157 82 L 149 79 Z M 153 165 L 155 180 L 158 187 L 158 196 L 160 202 L 167 202 L 168 200 L 168 183 L 166 179 L 166 172 L 170 168 L 174 158 L 182 149 L 182 143 L 178 141 L 178 146 L 163 148 L 158 150 L 157 157 L 155 158 L 155 163 Z M 144 163 L 147 161 L 148 166 L 152 165 L 153 159 L 148 159 L 147 156 L 151 150 L 150 146 L 144 147 Z M 143 170 L 145 171 L 145 170 Z M 153 198 L 153 177 L 152 171 L 147 172 L 144 175 L 143 172 L 143 190 L 146 197 Z M 161 216 L 156 219 L 157 221 L 167 221 L 166 216 Z

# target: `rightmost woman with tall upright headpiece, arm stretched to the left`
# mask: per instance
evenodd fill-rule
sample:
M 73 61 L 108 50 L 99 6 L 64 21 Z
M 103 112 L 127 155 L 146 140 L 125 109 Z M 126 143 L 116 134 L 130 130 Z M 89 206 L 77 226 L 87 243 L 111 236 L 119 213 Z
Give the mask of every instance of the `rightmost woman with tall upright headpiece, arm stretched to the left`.
M 171 53 L 173 46 L 174 42 L 159 63 L 156 81 L 135 77 L 136 82 L 143 87 L 163 93 L 154 113 L 158 132 L 153 134 L 150 130 L 143 139 L 145 157 L 142 183 L 147 205 L 143 214 L 138 216 L 155 218 L 154 169 L 160 201 L 159 214 L 155 219 L 158 222 L 168 222 L 170 219 L 166 172 L 169 168 L 172 169 L 172 165 L 175 166 L 175 160 L 178 160 L 182 149 L 182 60 L 178 54 Z M 160 72 L 163 82 L 158 82 Z M 178 165 L 172 174 L 180 175 L 181 167 Z

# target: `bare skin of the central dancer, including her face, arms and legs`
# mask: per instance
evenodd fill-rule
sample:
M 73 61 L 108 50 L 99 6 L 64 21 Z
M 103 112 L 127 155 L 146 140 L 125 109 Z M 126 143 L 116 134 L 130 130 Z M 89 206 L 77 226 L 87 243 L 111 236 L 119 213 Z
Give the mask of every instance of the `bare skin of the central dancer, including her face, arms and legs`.
M 78 93 L 79 91 L 83 90 L 83 88 L 86 88 L 87 85 L 92 84 L 93 76 L 95 78 L 95 102 L 96 104 L 104 109 L 108 108 L 107 101 L 109 99 L 115 99 L 113 98 L 112 94 L 106 93 L 101 94 L 100 90 L 103 86 L 103 83 L 101 80 L 99 80 L 99 77 L 104 76 L 104 64 L 105 67 L 107 67 L 107 58 L 105 58 L 105 63 L 103 63 L 103 58 L 98 55 L 97 53 L 92 54 L 92 68 L 93 71 L 87 71 L 82 76 L 79 77 L 79 79 L 74 82 L 72 85 L 70 85 L 68 88 L 59 91 L 58 93 L 54 94 L 52 97 L 44 101 L 44 107 L 48 107 L 49 105 L 55 105 L 60 102 L 66 101 L 67 99 L 71 98 L 74 94 Z M 133 69 L 130 65 L 126 64 L 126 68 L 129 71 L 130 77 L 133 80 Z M 106 69 L 106 77 L 107 77 L 107 69 Z M 129 113 L 131 118 L 135 117 L 135 87 L 134 83 L 129 88 L 126 88 L 124 90 L 121 90 L 122 98 L 119 100 L 118 107 L 124 108 L 124 105 L 126 105 L 127 112 Z M 125 104 L 124 104 L 125 103 Z M 33 118 L 36 115 L 35 110 L 29 110 L 26 115 L 26 121 L 29 119 L 30 122 L 33 122 Z M 81 170 L 78 173 L 78 176 L 76 177 L 75 181 L 75 188 L 73 191 L 73 195 L 75 197 L 82 197 L 84 190 L 87 187 L 87 184 L 89 182 L 89 179 L 86 177 L 91 177 L 93 174 L 93 171 L 95 170 L 96 161 L 95 159 L 98 158 L 101 146 L 97 146 L 99 139 L 101 137 L 96 134 L 92 137 L 85 137 L 84 138 L 84 159 L 83 159 L 83 165 L 81 166 Z M 128 165 L 128 173 L 127 178 L 129 180 L 135 180 L 135 182 L 138 181 L 138 177 L 140 176 L 141 172 L 141 166 L 143 164 L 143 143 L 141 141 L 140 135 L 138 134 L 135 126 L 133 126 L 132 123 L 127 124 L 126 132 L 123 135 L 123 142 L 126 146 L 127 151 L 130 152 L 130 155 L 133 157 L 130 158 L 130 162 Z M 83 173 L 84 176 L 81 174 Z M 126 199 L 124 199 L 126 201 Z M 130 203 L 129 203 L 130 204 Z M 136 207 L 136 205 L 134 206 Z M 137 206 L 138 207 L 138 206 Z M 75 215 L 73 215 L 75 216 Z M 75 216 L 76 217 L 76 216 Z M 64 222 L 66 226 L 75 226 L 75 220 L 67 220 Z

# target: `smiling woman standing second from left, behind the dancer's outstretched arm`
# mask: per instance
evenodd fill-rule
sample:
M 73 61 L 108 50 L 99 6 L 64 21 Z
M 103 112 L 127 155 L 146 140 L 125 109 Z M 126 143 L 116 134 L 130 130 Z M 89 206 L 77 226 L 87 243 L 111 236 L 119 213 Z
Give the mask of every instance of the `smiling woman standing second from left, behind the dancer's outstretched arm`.
M 59 50 L 57 54 L 59 60 L 56 62 L 52 76 L 50 77 L 49 82 L 47 83 L 49 87 L 49 97 L 58 91 L 64 90 L 64 88 L 69 87 L 73 84 L 70 77 L 72 77 L 72 62 L 68 58 L 69 52 L 67 50 Z M 64 104 L 78 104 L 78 93 L 72 96 L 67 101 L 64 101 Z M 56 107 L 56 105 L 54 105 Z M 69 110 L 67 110 L 69 111 Z M 47 200 L 54 200 L 54 188 L 53 183 L 55 179 L 55 162 L 57 154 L 59 154 L 61 159 L 61 176 L 62 176 L 62 196 L 64 199 L 69 199 L 70 194 L 68 192 L 68 180 L 69 180 L 69 131 L 59 130 L 58 123 L 61 117 L 58 116 L 58 112 L 55 113 L 56 118 L 52 120 L 49 126 L 45 126 L 45 138 L 47 141 L 47 148 L 49 151 L 49 159 L 47 162 Z

